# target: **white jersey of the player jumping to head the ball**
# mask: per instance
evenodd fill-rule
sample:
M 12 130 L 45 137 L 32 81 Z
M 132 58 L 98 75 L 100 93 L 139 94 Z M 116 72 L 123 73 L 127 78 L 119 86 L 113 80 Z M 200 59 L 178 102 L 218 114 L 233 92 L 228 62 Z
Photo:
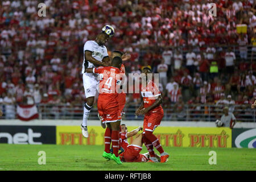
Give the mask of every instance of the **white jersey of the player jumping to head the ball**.
M 102 45 L 99 46 L 94 40 L 88 40 L 84 44 L 84 53 L 85 51 L 90 51 L 92 52 L 92 56 L 94 59 L 98 61 L 102 61 L 104 57 L 108 57 L 108 50 L 106 49 L 106 46 Z M 90 63 L 90 61 L 85 60 L 85 55 L 84 55 L 84 63 L 82 63 L 82 73 L 85 73 L 86 68 L 95 68 L 95 66 Z M 94 74 L 93 73 L 85 73 L 86 76 L 92 77 Z

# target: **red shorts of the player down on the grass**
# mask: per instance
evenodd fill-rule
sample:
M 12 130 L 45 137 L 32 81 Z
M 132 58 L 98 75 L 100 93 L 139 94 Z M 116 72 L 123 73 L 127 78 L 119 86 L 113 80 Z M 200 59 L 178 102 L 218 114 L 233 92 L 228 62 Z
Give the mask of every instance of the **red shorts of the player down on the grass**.
M 133 144 L 127 146 L 125 151 L 120 154 L 120 156 L 122 156 L 122 162 L 147 162 L 148 158 L 142 154 L 139 154 L 141 150 L 141 146 L 136 146 Z

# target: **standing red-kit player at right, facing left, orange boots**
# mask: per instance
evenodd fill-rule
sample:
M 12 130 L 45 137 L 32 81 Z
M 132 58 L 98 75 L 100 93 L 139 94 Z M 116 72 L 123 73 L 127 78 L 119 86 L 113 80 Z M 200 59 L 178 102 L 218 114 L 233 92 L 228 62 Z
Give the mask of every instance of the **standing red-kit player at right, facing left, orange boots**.
M 135 114 L 145 115 L 143 123 L 143 142 L 147 147 L 148 152 L 150 153 L 151 160 L 149 160 L 149 162 L 158 162 L 154 152 L 155 147 L 156 150 L 158 150 L 160 153 L 160 162 L 164 163 L 167 162 L 169 154 L 164 152 L 158 138 L 156 138 L 153 134 L 153 131 L 156 129 L 156 127 L 160 125 L 164 115 L 163 108 L 160 105 L 162 103 L 162 97 L 154 82 L 148 79 L 148 74 L 152 74 L 151 69 L 145 67 L 143 68 L 143 73 L 146 75 L 146 77 L 142 77 L 142 81 L 146 81 L 146 87 L 143 88 L 142 86 L 141 95 L 143 102 Z

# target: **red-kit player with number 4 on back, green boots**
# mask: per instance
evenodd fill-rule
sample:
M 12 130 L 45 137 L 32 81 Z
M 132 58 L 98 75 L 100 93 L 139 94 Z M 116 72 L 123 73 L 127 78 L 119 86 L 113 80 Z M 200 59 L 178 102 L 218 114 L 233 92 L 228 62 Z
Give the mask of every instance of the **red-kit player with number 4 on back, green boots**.
M 121 113 L 117 101 L 118 93 L 116 92 L 116 85 L 121 82 L 118 80 L 121 67 L 121 57 L 114 57 L 112 66 L 87 68 L 86 73 L 98 73 L 103 76 L 99 85 L 98 96 L 98 113 L 102 118 L 102 122 L 107 123 L 105 131 L 105 151 L 103 157 L 112 159 L 118 164 L 122 164 L 119 156 L 119 131 L 121 122 Z M 113 155 L 110 152 L 110 143 L 113 146 Z

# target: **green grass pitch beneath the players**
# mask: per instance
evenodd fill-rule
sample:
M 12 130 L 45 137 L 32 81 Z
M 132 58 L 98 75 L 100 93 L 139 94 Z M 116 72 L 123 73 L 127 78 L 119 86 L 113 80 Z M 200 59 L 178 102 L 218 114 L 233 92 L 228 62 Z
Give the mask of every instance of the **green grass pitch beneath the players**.
M 256 150 L 249 148 L 164 147 L 170 154 L 167 163 L 121 165 L 102 158 L 103 150 L 104 146 L 0 144 L 0 170 L 256 170 Z M 39 151 L 46 152 L 45 165 L 38 164 Z M 209 164 L 209 151 L 216 151 L 216 165 Z M 142 152 L 147 152 L 146 148 Z

